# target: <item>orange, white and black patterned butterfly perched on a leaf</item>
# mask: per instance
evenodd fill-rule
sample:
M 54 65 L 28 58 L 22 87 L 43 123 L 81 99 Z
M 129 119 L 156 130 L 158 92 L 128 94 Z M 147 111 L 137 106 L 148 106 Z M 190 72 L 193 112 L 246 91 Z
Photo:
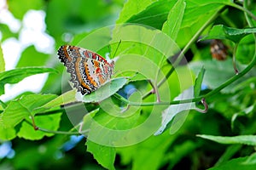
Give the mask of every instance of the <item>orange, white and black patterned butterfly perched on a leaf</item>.
M 59 59 L 71 74 L 73 88 L 81 94 L 90 94 L 113 76 L 114 61 L 108 63 L 101 55 L 76 46 L 63 45 L 58 49 Z

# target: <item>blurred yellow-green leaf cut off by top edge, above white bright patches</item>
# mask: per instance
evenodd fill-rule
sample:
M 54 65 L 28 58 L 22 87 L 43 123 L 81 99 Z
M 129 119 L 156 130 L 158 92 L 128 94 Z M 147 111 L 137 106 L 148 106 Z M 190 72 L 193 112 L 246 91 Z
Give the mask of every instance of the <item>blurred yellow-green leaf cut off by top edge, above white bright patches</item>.
M 30 9 L 43 8 L 44 1 L 42 0 L 9 0 L 7 1 L 9 11 L 15 15 L 15 18 L 22 20 L 24 14 Z

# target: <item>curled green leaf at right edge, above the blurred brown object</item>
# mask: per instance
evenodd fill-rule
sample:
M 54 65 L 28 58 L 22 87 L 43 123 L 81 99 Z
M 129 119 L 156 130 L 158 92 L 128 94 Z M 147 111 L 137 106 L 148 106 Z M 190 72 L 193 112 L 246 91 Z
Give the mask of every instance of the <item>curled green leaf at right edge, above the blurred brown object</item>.
M 223 25 L 213 26 L 207 37 L 203 37 L 201 40 L 207 39 L 229 39 L 233 42 L 240 42 L 241 38 L 256 33 L 256 28 L 231 28 Z

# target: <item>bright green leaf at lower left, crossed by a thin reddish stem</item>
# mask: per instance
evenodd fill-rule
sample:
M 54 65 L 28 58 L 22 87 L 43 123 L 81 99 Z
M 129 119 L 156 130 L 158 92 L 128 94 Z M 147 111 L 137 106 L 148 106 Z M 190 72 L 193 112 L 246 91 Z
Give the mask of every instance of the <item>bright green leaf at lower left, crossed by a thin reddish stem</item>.
M 52 115 L 40 115 L 35 116 L 35 123 L 38 127 L 56 131 L 59 128 L 61 122 L 61 113 L 55 113 Z M 27 122 L 22 122 L 20 131 L 17 133 L 17 136 L 29 140 L 38 140 L 43 139 L 44 136 L 53 136 L 54 133 L 44 133 L 39 130 L 34 130 L 34 128 Z

